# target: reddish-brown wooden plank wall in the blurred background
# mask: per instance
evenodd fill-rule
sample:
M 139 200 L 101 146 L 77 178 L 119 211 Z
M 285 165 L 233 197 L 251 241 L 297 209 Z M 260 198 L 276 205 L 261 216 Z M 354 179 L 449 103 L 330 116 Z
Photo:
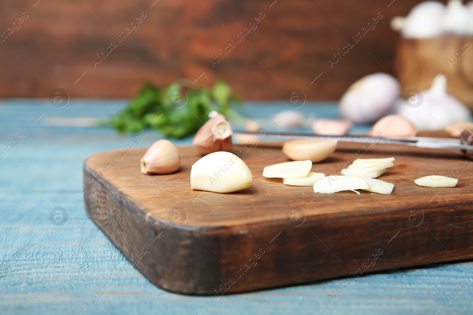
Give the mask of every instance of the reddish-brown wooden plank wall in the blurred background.
M 56 88 L 71 97 L 130 97 L 143 79 L 162 85 L 201 76 L 197 84 L 221 78 L 246 99 L 284 99 L 293 88 L 307 99 L 339 99 L 363 75 L 393 73 L 398 34 L 389 22 L 420 2 L 36 1 L 0 3 L 0 34 L 17 28 L 0 43 L 0 97 L 48 97 Z M 14 25 L 24 12 L 23 23 Z M 138 28 L 119 42 L 115 36 L 142 12 Z M 352 36 L 378 12 L 376 28 L 355 42 Z M 259 15 L 256 28 L 237 42 L 233 36 Z M 117 47 L 94 66 L 111 42 Z M 229 42 L 235 47 L 212 68 L 210 60 Z M 331 68 L 329 60 L 347 42 L 354 47 Z

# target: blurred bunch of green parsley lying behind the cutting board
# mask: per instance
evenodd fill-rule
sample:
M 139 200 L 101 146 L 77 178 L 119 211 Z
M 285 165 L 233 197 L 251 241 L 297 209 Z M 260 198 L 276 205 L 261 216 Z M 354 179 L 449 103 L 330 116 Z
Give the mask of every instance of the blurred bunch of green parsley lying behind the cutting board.
M 231 109 L 234 104 L 241 107 L 242 101 L 223 81 L 217 81 L 209 88 L 181 79 L 163 89 L 146 82 L 138 95 L 107 125 L 121 133 L 156 128 L 164 136 L 182 138 L 197 132 L 209 119 L 210 111 L 242 121 L 243 118 Z

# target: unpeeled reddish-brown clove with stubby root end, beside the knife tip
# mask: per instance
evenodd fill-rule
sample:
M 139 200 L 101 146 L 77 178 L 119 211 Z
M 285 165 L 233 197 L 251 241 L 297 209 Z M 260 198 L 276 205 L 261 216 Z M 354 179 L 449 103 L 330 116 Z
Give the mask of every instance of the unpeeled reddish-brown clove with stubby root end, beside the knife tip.
M 230 123 L 225 116 L 216 114 L 197 131 L 192 144 L 204 155 L 219 151 L 230 151 L 233 148 L 232 133 Z

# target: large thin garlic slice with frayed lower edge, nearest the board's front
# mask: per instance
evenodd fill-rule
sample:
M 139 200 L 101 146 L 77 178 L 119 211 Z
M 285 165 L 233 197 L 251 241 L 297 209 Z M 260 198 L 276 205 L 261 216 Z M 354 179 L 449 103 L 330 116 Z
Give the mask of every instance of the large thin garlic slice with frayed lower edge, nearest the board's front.
M 351 190 L 359 195 L 355 189 L 369 189 L 365 179 L 357 176 L 331 175 L 317 180 L 314 184 L 314 192 L 321 194 L 333 194 L 342 190 Z

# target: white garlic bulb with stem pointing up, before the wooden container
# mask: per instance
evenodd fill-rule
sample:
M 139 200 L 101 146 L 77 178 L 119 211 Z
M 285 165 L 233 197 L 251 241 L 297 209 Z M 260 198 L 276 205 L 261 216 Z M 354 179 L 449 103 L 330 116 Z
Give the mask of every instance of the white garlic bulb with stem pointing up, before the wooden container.
M 471 119 L 468 108 L 454 96 L 447 94 L 447 78 L 439 75 L 429 90 L 422 91 L 423 98 L 417 107 L 409 107 L 405 102 L 398 103 L 401 115 L 412 121 L 419 129 L 443 129 L 446 125 Z

